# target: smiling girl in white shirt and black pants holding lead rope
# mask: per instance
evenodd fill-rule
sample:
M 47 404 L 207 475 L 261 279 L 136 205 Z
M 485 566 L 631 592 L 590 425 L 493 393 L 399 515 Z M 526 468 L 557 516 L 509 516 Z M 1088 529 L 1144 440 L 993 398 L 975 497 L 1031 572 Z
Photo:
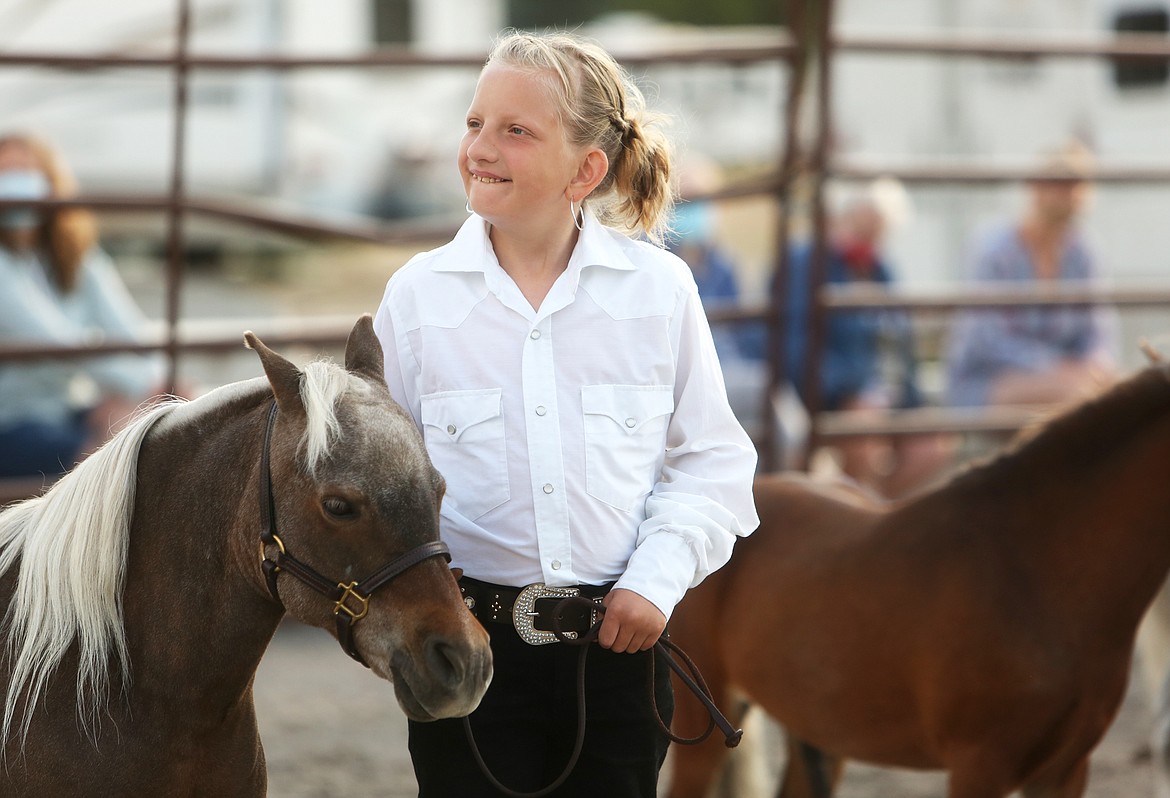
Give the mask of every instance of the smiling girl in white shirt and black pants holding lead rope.
M 668 741 L 648 649 L 757 524 L 755 449 L 690 271 L 628 235 L 661 240 L 668 143 L 604 50 L 512 33 L 480 75 L 459 171 L 473 215 L 390 280 L 374 325 L 391 392 L 447 480 L 443 538 L 491 634 L 472 728 L 508 787 L 556 778 L 578 651 L 541 645 L 556 639 L 544 615 L 566 592 L 593 598 L 589 725 L 557 794 L 652 797 Z M 592 613 L 576 620 L 584 632 Z M 669 722 L 661 662 L 656 675 Z M 420 796 L 498 794 L 460 721 L 412 723 L 410 741 Z

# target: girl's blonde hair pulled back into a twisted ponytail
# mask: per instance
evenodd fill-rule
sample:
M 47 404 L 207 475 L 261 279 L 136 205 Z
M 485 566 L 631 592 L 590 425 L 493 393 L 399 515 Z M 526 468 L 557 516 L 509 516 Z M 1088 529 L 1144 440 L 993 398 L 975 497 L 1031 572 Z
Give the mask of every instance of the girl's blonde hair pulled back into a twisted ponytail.
M 486 66 L 503 63 L 552 76 L 569 142 L 598 147 L 610 171 L 587 202 L 604 223 L 661 243 L 674 206 L 666 117 L 646 108 L 631 75 L 600 46 L 567 33 L 511 30 Z

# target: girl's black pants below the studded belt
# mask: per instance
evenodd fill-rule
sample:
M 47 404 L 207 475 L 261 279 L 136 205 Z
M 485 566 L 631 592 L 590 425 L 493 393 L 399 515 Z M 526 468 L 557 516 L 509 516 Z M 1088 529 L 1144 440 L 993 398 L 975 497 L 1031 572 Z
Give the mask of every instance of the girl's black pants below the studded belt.
M 552 783 L 572 755 L 577 731 L 578 646 L 530 646 L 503 624 L 488 624 L 495 676 L 472 714 L 475 742 L 504 786 L 531 792 Z M 615 654 L 593 644 L 585 670 L 585 744 L 558 798 L 654 798 L 669 739 L 654 720 L 674 715 L 670 672 L 653 651 Z M 461 718 L 410 723 L 411 758 L 420 798 L 501 794 L 472 757 Z

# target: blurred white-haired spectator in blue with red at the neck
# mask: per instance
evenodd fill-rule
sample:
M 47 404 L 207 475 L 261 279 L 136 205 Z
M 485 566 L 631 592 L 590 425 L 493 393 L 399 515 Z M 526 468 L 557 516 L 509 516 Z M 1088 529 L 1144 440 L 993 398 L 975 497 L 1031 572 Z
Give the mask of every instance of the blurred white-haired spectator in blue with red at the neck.
M 901 184 L 882 179 L 851 197 L 830 222 L 825 280 L 830 284 L 888 286 L 894 275 L 881 254 L 887 231 L 909 213 Z M 787 379 L 805 404 L 810 348 L 810 283 L 813 246 L 796 246 L 789 257 L 785 363 Z M 820 403 L 826 411 L 883 415 L 923 404 L 917 384 L 913 330 L 904 314 L 855 310 L 828 312 L 820 362 Z M 763 357 L 764 352 L 756 353 Z M 892 366 L 892 367 L 890 367 Z M 951 442 L 940 435 L 870 435 L 834 445 L 840 467 L 878 493 L 906 495 L 934 479 L 949 462 Z

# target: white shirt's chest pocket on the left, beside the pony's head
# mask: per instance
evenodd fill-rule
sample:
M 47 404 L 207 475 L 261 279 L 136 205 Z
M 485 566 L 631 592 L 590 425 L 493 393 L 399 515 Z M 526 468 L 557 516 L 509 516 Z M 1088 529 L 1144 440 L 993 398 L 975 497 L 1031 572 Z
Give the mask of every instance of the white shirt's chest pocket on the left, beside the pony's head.
M 445 391 L 422 397 L 422 436 L 447 480 L 447 497 L 475 520 L 508 501 L 503 392 Z

